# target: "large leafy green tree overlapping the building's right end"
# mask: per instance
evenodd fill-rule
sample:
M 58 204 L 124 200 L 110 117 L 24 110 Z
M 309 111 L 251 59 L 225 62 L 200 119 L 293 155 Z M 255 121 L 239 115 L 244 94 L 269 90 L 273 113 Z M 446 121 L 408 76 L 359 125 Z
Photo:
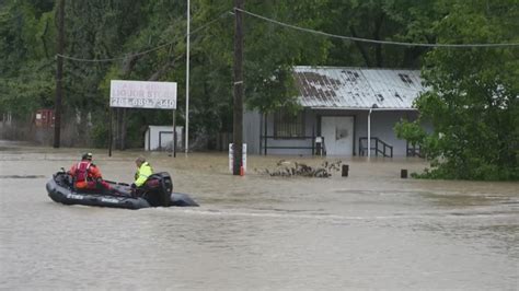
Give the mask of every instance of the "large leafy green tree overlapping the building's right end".
M 445 1 L 439 43 L 518 43 L 517 2 Z M 419 118 L 399 135 L 422 144 L 431 160 L 424 177 L 519 179 L 519 49 L 437 48 L 423 75 L 429 92 L 416 101 Z M 435 130 L 423 135 L 419 123 Z M 414 127 L 414 128 L 412 128 Z

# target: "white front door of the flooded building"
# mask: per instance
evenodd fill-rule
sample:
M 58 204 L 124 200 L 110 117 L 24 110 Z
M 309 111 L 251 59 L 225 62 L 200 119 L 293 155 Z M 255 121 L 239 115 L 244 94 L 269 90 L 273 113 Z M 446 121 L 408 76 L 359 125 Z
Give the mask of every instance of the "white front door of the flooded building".
M 354 117 L 323 116 L 321 118 L 321 136 L 327 155 L 354 154 Z

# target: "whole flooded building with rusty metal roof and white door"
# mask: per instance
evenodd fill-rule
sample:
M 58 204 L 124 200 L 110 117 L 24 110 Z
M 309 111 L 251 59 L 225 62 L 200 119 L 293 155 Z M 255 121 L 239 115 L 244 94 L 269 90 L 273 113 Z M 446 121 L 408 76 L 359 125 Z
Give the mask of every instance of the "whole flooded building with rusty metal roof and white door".
M 249 153 L 410 155 L 393 127 L 414 120 L 413 102 L 426 89 L 419 71 L 336 67 L 295 67 L 299 102 L 297 116 L 284 110 L 270 115 L 247 112 L 244 141 Z

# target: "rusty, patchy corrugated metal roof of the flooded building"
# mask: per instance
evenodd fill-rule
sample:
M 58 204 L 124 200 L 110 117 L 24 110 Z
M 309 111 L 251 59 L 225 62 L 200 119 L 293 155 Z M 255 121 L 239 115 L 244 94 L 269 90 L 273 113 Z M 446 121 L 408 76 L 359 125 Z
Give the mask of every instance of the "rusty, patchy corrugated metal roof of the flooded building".
M 426 91 L 417 70 L 295 67 L 293 74 L 303 107 L 408 109 Z

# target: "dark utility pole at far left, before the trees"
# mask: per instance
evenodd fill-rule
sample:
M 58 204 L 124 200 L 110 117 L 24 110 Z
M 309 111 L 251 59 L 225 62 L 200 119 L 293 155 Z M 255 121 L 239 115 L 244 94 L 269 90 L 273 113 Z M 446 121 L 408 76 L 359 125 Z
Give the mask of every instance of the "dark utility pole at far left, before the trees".
M 54 119 L 54 148 L 59 148 L 61 131 L 61 86 L 64 77 L 64 48 L 65 48 L 65 0 L 58 3 L 58 47 L 57 47 L 57 69 L 56 69 L 56 102 Z

